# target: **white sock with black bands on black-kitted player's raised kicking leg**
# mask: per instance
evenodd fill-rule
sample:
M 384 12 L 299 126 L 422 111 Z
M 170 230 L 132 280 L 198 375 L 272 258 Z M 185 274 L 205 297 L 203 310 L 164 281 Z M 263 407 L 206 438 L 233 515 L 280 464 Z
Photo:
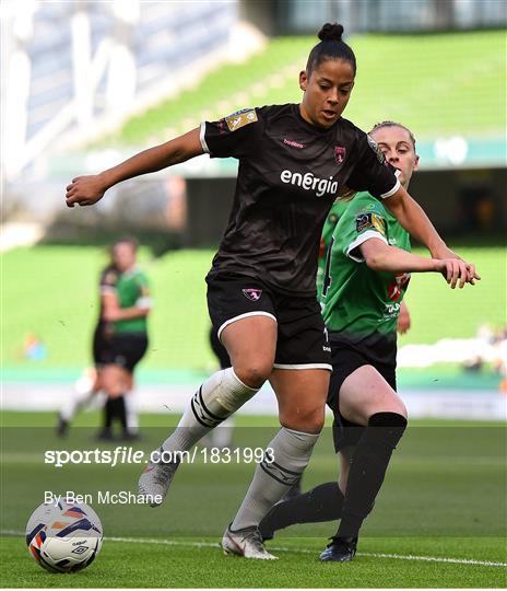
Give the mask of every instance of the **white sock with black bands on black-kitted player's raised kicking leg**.
M 170 452 L 190 450 L 258 391 L 244 384 L 233 368 L 213 373 L 192 396 L 178 426 L 164 441 L 162 449 Z

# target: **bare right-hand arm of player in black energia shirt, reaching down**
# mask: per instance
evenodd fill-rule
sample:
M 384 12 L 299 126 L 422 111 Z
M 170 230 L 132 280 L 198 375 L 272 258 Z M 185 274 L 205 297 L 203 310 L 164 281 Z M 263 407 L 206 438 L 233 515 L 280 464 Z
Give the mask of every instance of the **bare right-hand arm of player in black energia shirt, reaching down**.
M 465 263 L 447 246 L 424 212 L 424 209 L 406 193 L 403 187 L 400 187 L 394 195 L 385 199 L 384 204 L 398 219 L 401 225 L 408 232 L 410 232 L 412 236 L 427 247 L 427 250 L 432 253 L 433 258 L 455 258 L 462 263 L 459 264 L 458 269 L 460 281 L 464 277 L 467 282 L 474 285 L 475 279 L 481 279 L 475 271 L 475 266 L 472 263 Z

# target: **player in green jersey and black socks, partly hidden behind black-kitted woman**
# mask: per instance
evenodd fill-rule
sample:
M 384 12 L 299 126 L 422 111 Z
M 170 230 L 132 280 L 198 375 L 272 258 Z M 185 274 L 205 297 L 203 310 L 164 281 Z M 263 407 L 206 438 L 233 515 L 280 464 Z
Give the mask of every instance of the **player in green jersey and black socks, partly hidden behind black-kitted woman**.
M 413 134 L 384 121 L 370 136 L 408 188 L 418 166 Z M 319 291 L 333 366 L 328 405 L 334 414 L 340 479 L 279 502 L 260 531 L 269 540 L 291 524 L 341 519 L 320 559 L 347 561 L 406 427 L 406 409 L 396 392 L 396 356 L 410 274 L 436 271 L 446 278 L 449 262 L 411 254 L 409 233 L 368 193 L 334 205 L 321 245 L 328 255 Z M 406 327 L 405 320 L 402 331 Z

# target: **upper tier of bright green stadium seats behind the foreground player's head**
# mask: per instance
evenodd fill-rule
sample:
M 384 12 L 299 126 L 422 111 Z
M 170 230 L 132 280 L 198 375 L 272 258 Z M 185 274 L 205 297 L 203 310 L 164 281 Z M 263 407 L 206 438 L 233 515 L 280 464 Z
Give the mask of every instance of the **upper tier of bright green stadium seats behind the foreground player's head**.
M 314 42 L 314 37 L 272 39 L 247 62 L 211 72 L 192 92 L 184 92 L 131 118 L 118 134 L 101 143 L 143 144 L 244 106 L 297 102 L 297 73 Z M 391 117 L 413 126 L 421 139 L 451 134 L 471 138 L 503 134 L 503 32 L 357 35 L 349 42 L 359 69 L 345 116 L 359 126 L 368 127 L 379 118 Z M 405 82 L 400 86 L 397 80 Z M 448 104 L 456 107 L 443 108 Z

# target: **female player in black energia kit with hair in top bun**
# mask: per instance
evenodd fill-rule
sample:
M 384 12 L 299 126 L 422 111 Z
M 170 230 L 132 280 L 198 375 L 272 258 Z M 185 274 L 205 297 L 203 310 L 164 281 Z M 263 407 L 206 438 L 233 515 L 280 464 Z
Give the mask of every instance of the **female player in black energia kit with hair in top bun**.
M 226 553 L 247 558 L 274 558 L 258 524 L 300 477 L 323 425 L 331 364 L 315 276 L 320 232 L 337 194 L 346 186 L 385 199 L 434 257 L 455 259 L 449 281 L 464 283 L 475 275 L 473 265 L 449 251 L 375 143 L 341 117 L 356 71 L 342 33 L 337 24 L 319 33 L 299 74 L 300 104 L 205 121 L 67 187 L 69 207 L 86 206 L 121 181 L 203 153 L 239 160 L 233 210 L 207 277 L 210 316 L 233 366 L 202 384 L 161 447 L 170 453 L 148 465 L 139 486 L 153 506 L 160 503 L 154 496 L 165 497 L 178 467 L 175 452 L 189 450 L 270 380 L 282 428 L 222 541 Z

